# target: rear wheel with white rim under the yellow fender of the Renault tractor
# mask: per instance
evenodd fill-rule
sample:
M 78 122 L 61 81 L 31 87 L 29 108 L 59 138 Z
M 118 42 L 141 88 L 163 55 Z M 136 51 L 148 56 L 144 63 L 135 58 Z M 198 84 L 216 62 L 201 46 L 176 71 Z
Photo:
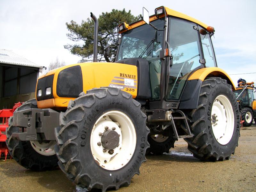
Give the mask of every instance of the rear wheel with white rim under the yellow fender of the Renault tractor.
M 204 80 L 197 109 L 190 113 L 193 138 L 186 138 L 188 150 L 204 161 L 223 161 L 235 153 L 240 136 L 238 104 L 227 81 Z

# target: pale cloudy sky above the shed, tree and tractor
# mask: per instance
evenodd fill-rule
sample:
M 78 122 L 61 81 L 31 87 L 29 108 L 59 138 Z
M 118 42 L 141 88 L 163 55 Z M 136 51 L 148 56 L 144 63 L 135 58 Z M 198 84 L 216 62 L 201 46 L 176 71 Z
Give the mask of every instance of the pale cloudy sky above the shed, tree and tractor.
M 56 57 L 66 64 L 77 63 L 81 57 L 64 48 L 65 44 L 73 44 L 66 36 L 66 22 L 74 20 L 80 24 L 90 17 L 90 12 L 98 17 L 102 12 L 123 8 L 139 15 L 145 7 L 152 15 L 161 5 L 213 26 L 212 42 L 218 67 L 230 74 L 235 85 L 239 78 L 256 83 L 254 0 L 1 0 L 0 49 L 12 50 L 39 66 L 47 67 Z

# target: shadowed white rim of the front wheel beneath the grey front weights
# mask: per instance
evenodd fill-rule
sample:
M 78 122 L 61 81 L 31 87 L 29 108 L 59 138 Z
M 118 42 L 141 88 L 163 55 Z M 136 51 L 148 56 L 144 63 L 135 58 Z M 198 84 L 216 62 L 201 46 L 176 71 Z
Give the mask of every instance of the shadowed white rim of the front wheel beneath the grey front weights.
M 55 140 L 50 141 L 49 143 L 39 143 L 38 141 L 30 141 L 32 148 L 39 154 L 44 156 L 55 155 L 54 145 L 56 144 Z

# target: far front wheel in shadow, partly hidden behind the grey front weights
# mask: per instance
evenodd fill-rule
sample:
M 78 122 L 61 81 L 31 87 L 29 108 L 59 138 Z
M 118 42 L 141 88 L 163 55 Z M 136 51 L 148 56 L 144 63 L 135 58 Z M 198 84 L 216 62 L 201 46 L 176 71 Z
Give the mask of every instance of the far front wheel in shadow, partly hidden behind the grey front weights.
M 36 99 L 28 100 L 15 111 L 37 108 Z M 55 141 L 39 143 L 38 141 L 19 141 L 12 138 L 12 133 L 19 132 L 19 127 L 12 126 L 12 117 L 6 129 L 6 145 L 12 158 L 21 166 L 33 171 L 52 170 L 58 166 L 58 158 L 54 152 Z

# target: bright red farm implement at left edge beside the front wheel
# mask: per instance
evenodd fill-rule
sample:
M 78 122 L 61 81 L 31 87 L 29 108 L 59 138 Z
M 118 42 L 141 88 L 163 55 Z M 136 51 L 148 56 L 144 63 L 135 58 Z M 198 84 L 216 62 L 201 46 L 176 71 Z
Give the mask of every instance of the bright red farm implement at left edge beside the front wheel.
M 8 127 L 8 122 L 10 116 L 13 115 L 13 112 L 16 108 L 20 107 L 22 103 L 18 102 L 15 103 L 12 109 L 2 109 L 0 110 L 0 158 L 2 154 L 5 156 L 5 161 L 8 154 L 8 148 L 6 146 L 5 140 L 6 140 L 6 128 Z

